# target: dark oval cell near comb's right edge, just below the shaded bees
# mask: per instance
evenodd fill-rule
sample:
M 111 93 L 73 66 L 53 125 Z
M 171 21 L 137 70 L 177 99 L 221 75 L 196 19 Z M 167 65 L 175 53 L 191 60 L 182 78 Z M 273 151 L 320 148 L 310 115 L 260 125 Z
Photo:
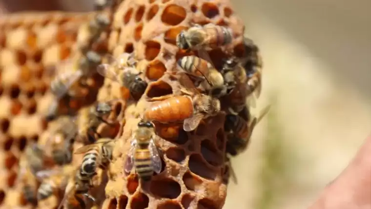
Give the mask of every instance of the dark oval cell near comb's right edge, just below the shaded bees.
M 201 142 L 201 154 L 212 166 L 221 166 L 223 163 L 223 156 L 218 154 L 217 148 L 210 140 L 205 139 Z

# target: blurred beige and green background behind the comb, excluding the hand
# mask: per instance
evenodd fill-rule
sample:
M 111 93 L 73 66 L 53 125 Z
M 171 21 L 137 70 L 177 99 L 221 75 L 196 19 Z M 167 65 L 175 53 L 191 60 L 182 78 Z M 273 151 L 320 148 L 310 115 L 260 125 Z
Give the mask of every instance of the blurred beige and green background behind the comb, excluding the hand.
M 2 13 L 93 8 L 90 0 L 20 2 L 1 0 Z M 230 181 L 224 208 L 307 208 L 371 133 L 371 1 L 232 4 L 263 55 L 256 110 L 272 108 L 232 159 L 238 183 Z

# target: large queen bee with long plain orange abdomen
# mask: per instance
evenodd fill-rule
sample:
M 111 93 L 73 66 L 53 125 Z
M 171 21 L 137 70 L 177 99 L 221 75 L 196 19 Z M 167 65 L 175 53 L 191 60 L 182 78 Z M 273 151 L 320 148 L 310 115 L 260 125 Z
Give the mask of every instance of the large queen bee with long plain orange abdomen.
M 163 124 L 183 122 L 183 129 L 192 131 L 202 119 L 220 112 L 220 101 L 210 95 L 201 94 L 186 74 L 178 73 L 177 78 L 184 86 L 180 91 L 185 95 L 153 102 L 144 111 L 144 119 Z

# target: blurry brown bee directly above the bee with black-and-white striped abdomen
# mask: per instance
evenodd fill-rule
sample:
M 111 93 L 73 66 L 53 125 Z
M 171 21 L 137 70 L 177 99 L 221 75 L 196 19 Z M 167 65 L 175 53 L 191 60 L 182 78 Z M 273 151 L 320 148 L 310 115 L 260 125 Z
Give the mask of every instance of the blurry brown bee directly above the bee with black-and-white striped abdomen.
M 89 143 L 94 143 L 96 141 L 94 134 L 100 137 L 99 133 L 97 133 L 97 128 L 101 123 L 113 125 L 113 122 L 105 120 L 113 110 L 111 102 L 93 104 L 79 112 L 78 120 L 83 122 L 81 123 L 82 125 L 78 124 L 79 136 L 82 138 L 86 137 Z

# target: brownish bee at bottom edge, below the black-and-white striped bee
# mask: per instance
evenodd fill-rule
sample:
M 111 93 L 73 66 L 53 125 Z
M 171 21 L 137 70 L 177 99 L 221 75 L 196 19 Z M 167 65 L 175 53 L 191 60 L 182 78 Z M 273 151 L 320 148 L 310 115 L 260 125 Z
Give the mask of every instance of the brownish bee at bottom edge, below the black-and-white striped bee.
M 75 175 L 73 175 L 72 181 L 67 183 L 64 197 L 58 207 L 61 209 L 66 203 L 69 207 L 67 208 L 81 208 L 85 209 L 85 198 L 88 198 L 92 202 L 96 202 L 95 198 L 89 194 L 89 189 L 93 187 L 91 178 L 81 176 L 80 168 L 76 169 Z

